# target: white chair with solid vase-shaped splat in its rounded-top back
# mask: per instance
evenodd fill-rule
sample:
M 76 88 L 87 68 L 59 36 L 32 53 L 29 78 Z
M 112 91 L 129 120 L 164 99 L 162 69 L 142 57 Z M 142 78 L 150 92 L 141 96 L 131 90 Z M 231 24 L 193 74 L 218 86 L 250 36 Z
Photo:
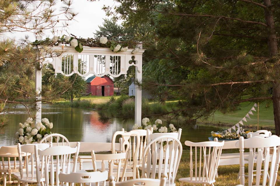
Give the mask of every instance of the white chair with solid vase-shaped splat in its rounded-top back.
M 122 131 L 116 131 L 112 138 L 113 154 L 118 153 L 118 151 L 116 151 L 115 149 L 115 141 L 117 139 L 117 136 L 121 136 L 121 152 L 128 153 L 129 158 L 125 177 L 133 177 L 133 179 L 136 179 L 137 167 L 139 167 L 137 160 L 140 151 L 140 134 L 137 131 L 126 132 L 124 131 L 124 129 Z M 130 169 L 132 169 L 132 171 Z

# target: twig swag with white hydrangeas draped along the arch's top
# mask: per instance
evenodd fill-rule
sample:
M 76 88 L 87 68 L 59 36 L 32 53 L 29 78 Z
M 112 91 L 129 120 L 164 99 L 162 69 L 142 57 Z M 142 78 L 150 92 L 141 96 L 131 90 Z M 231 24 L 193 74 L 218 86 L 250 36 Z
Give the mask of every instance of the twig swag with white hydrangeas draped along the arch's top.
M 84 39 L 84 38 L 77 38 L 77 37 L 70 37 L 67 35 L 62 35 L 60 36 L 53 36 L 52 39 L 46 38 L 41 41 L 34 41 L 32 43 L 34 46 L 38 45 L 48 45 L 48 46 L 58 46 L 59 44 L 70 44 L 71 47 L 74 47 L 75 50 L 79 53 L 83 51 L 83 46 L 88 46 L 88 47 L 106 47 L 110 48 L 111 51 L 118 53 L 118 52 L 125 52 L 128 49 L 127 47 L 122 46 L 122 44 L 118 44 L 118 42 L 114 40 L 108 40 L 107 37 L 101 36 L 98 39 L 94 38 L 89 38 Z M 135 49 L 131 53 L 137 53 L 139 52 L 139 48 L 135 47 Z

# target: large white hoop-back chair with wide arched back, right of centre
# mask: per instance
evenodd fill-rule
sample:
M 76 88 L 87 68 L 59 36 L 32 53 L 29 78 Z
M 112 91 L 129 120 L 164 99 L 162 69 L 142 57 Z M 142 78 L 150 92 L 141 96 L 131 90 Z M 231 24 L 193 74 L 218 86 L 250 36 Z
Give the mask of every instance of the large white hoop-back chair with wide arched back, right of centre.
M 166 145 L 163 146 L 163 143 Z M 170 143 L 170 144 L 169 144 Z M 159 147 L 158 147 L 159 146 Z M 161 174 L 168 175 L 167 185 L 175 185 L 177 170 L 182 156 L 182 144 L 177 137 L 161 136 L 152 140 L 144 149 L 141 178 L 160 179 Z

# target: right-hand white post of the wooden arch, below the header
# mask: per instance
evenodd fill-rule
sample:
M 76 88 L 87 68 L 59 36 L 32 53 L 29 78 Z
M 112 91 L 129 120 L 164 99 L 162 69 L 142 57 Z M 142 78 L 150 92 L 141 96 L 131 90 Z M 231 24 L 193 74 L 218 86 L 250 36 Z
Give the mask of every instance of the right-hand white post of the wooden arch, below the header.
M 135 69 L 135 81 L 142 81 L 142 55 L 135 56 L 136 66 Z M 142 90 L 141 87 L 135 83 L 135 119 L 134 123 L 141 125 L 141 112 L 142 112 Z

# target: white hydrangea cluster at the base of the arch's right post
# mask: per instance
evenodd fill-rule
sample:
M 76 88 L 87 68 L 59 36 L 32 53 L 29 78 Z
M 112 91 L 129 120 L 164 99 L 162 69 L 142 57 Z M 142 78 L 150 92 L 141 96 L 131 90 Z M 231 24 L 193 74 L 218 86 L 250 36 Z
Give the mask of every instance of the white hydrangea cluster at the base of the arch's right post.
M 153 133 L 171 133 L 171 132 L 178 133 L 178 131 L 176 130 L 173 124 L 169 124 L 169 126 L 166 127 L 166 125 L 162 124 L 162 120 L 160 119 L 155 120 L 155 124 L 152 125 L 150 119 L 145 117 L 142 119 L 142 124 L 143 124 L 142 126 L 140 126 L 139 124 L 134 124 L 132 130 L 136 130 L 136 129 L 147 130 L 152 127 Z

